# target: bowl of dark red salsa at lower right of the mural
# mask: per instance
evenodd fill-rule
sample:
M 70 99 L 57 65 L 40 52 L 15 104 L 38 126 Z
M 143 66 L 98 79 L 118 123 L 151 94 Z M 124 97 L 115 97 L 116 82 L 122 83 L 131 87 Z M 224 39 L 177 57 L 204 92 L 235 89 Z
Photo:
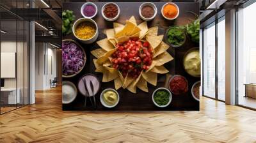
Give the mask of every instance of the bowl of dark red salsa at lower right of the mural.
M 179 95 L 188 92 L 188 80 L 182 75 L 174 75 L 169 79 L 168 87 L 173 94 Z

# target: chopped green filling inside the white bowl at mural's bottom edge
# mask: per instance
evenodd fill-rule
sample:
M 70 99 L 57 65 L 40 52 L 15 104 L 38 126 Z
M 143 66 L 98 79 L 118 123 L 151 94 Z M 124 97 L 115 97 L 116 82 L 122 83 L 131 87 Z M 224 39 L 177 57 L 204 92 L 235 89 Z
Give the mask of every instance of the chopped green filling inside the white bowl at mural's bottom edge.
M 170 93 L 168 91 L 165 91 L 163 89 L 160 89 L 159 91 L 156 91 L 154 94 L 154 101 L 160 105 L 166 105 L 170 100 Z

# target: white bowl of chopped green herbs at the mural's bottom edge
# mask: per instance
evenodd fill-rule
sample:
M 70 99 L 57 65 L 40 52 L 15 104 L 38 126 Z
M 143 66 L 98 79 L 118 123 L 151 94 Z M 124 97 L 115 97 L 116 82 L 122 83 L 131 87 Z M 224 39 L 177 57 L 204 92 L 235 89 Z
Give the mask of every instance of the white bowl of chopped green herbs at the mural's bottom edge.
M 160 87 L 152 94 L 152 101 L 157 107 L 167 107 L 172 102 L 172 93 L 168 89 Z

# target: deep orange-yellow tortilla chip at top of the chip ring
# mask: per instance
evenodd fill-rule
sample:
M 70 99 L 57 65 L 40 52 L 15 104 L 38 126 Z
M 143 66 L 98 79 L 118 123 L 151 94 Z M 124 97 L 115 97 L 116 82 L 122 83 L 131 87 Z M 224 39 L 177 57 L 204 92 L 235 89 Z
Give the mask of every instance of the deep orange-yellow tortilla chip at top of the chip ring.
M 132 22 L 127 20 L 126 25 L 124 26 L 124 29 L 122 31 L 115 34 L 115 38 L 121 37 L 121 36 L 131 36 L 135 33 L 140 32 L 140 28 L 134 25 Z

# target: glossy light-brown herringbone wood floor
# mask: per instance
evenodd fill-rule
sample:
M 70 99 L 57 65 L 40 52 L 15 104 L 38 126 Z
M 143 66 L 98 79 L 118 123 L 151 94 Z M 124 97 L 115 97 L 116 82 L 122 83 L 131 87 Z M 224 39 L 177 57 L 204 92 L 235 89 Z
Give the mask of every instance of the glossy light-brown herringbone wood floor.
M 256 142 L 256 112 L 209 98 L 200 112 L 63 112 L 55 88 L 0 116 L 0 142 Z

